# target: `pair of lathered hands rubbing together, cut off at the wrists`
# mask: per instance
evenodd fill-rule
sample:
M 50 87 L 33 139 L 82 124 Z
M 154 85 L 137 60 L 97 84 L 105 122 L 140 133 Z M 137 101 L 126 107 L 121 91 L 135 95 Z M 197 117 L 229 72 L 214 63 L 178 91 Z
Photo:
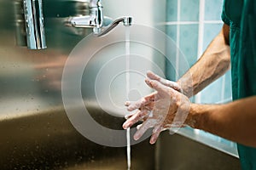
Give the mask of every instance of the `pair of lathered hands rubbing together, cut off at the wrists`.
M 150 139 L 150 143 L 154 144 L 161 131 L 169 127 L 183 126 L 189 113 L 190 101 L 178 92 L 181 88 L 178 88 L 176 82 L 166 81 L 152 72 L 148 72 L 147 76 L 145 82 L 156 91 L 137 102 L 125 103 L 128 111 L 137 112 L 127 117 L 123 127 L 126 129 L 138 121 L 143 121 L 134 135 L 136 140 L 140 139 L 148 128 L 154 127 Z

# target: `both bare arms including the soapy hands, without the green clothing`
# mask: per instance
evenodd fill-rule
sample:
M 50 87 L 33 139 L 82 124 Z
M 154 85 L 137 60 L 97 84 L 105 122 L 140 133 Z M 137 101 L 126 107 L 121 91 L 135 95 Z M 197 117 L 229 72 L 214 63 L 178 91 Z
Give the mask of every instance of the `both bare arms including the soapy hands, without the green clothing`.
M 198 105 L 190 103 L 188 99 L 229 69 L 228 39 L 229 26 L 224 25 L 201 59 L 177 82 L 182 88 L 148 73 L 146 83 L 156 92 L 135 103 L 126 104 L 128 111 L 138 111 L 128 118 L 123 127 L 131 127 L 134 123 L 143 121 L 134 139 L 139 139 L 149 127 L 154 127 L 150 139 L 150 143 L 154 144 L 166 127 L 180 127 L 183 123 L 256 147 L 256 96 L 224 105 Z M 176 88 L 173 89 L 173 86 Z M 178 91 L 183 91 L 183 94 Z

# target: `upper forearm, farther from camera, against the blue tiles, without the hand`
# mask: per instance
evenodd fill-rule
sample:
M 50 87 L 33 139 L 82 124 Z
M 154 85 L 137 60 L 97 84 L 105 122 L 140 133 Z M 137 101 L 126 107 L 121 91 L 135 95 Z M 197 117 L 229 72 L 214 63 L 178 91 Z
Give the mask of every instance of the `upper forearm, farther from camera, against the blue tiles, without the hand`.
M 224 75 L 230 68 L 229 26 L 222 31 L 208 46 L 201 59 L 193 65 L 177 82 L 183 93 L 191 97 L 208 84 Z

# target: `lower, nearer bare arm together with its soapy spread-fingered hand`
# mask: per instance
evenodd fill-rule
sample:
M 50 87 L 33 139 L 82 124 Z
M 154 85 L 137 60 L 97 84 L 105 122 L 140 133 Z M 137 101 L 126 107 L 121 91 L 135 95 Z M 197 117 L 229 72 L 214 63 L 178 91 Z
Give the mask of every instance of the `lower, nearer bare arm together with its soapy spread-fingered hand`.
M 224 105 L 198 105 L 173 88 L 156 80 L 146 79 L 156 90 L 154 105 L 128 105 L 128 111 L 138 111 L 130 116 L 123 127 L 143 121 L 134 139 L 140 139 L 148 128 L 154 127 L 150 143 L 154 144 L 160 132 L 169 127 L 199 128 L 240 144 L 256 147 L 256 96 L 236 100 Z M 145 98 L 143 98 L 145 99 Z

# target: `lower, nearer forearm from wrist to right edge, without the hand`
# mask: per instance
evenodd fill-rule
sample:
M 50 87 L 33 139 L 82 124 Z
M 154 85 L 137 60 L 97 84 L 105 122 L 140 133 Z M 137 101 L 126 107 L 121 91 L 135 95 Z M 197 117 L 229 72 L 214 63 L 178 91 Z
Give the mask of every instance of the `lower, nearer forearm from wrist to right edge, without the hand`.
M 225 105 L 192 104 L 187 123 L 241 144 L 256 147 L 256 96 Z

